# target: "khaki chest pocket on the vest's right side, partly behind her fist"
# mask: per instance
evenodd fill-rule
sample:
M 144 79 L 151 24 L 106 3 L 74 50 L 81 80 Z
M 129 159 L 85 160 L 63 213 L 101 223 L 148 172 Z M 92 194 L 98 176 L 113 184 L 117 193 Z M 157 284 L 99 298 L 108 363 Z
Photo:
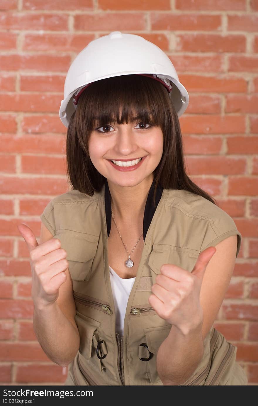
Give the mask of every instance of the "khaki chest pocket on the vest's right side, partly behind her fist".
M 163 264 L 170 263 L 191 272 L 198 256 L 199 251 L 190 248 L 153 244 L 148 260 L 153 284 L 156 283 L 156 276 L 160 274 L 160 268 Z

